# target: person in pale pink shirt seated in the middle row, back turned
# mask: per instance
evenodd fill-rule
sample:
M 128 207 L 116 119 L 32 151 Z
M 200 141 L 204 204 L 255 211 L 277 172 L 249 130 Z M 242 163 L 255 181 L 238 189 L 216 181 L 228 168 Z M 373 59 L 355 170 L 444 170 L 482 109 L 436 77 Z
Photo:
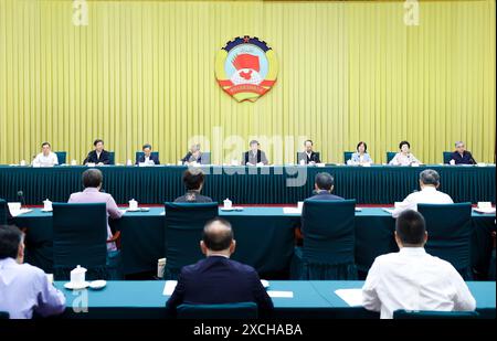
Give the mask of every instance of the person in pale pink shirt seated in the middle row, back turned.
M 107 206 L 107 239 L 113 237 L 113 233 L 108 225 L 108 217 L 120 219 L 123 212 L 117 207 L 114 198 L 108 193 L 101 192 L 102 183 L 104 181 L 104 175 L 98 169 L 87 169 L 83 172 L 83 187 L 85 188 L 83 192 L 77 192 L 71 194 L 68 203 L 98 203 L 105 202 Z M 116 251 L 116 244 L 107 243 L 107 251 Z

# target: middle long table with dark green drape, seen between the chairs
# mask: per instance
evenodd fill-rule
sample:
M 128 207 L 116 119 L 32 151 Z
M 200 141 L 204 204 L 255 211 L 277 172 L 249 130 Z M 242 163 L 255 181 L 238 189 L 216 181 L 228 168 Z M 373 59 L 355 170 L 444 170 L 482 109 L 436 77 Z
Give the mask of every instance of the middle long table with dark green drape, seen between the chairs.
M 391 214 L 380 207 L 360 210 L 356 212 L 356 264 L 358 270 L 366 274 L 377 256 L 396 252 L 398 247 Z M 125 275 L 155 273 L 157 260 L 166 256 L 163 212 L 163 207 L 150 207 L 148 212 L 126 212 L 120 220 L 110 221 L 112 227 L 121 232 Z M 241 212 L 220 209 L 219 213 L 233 226 L 236 239 L 233 259 L 253 266 L 261 276 L 287 278 L 299 213 L 285 213 L 283 207 L 244 207 Z M 15 220 L 18 226 L 27 228 L 27 262 L 52 273 L 52 213 L 33 209 Z M 496 216 L 473 212 L 472 222 L 472 265 L 478 273 L 486 274 Z

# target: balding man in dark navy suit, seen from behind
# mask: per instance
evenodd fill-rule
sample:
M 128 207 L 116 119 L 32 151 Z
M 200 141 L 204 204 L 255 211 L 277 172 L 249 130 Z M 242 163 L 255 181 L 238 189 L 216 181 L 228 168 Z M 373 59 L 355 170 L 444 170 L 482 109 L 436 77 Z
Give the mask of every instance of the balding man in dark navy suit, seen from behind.
M 228 221 L 216 217 L 205 224 L 200 248 L 207 258 L 181 269 L 178 285 L 166 303 L 170 313 L 175 315 L 176 308 L 182 303 L 255 302 L 260 316 L 269 315 L 274 308 L 273 301 L 257 271 L 230 259 L 235 245 Z

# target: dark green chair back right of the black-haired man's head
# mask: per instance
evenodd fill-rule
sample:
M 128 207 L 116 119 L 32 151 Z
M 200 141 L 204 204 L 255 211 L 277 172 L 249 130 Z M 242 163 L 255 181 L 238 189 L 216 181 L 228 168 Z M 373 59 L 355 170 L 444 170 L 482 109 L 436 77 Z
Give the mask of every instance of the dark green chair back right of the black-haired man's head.
M 426 222 L 426 252 L 458 271 L 470 267 L 472 204 L 417 204 L 417 211 Z

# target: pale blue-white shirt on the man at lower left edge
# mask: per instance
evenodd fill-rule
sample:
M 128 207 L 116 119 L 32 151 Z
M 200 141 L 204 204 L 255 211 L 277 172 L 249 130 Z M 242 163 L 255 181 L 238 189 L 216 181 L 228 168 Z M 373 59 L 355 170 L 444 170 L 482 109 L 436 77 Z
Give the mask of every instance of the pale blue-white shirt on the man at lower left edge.
M 0 310 L 11 319 L 31 319 L 62 313 L 65 296 L 49 283 L 45 273 L 13 258 L 0 259 Z

